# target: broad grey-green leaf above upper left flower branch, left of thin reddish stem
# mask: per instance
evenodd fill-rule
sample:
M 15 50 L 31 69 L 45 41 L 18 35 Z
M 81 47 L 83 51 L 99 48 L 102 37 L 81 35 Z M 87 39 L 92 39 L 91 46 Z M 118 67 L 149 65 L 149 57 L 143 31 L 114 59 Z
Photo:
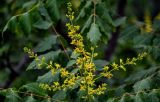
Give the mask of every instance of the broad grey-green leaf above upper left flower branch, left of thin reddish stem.
M 36 46 L 35 52 L 44 52 L 50 50 L 56 43 L 57 43 L 57 36 L 50 35 Z

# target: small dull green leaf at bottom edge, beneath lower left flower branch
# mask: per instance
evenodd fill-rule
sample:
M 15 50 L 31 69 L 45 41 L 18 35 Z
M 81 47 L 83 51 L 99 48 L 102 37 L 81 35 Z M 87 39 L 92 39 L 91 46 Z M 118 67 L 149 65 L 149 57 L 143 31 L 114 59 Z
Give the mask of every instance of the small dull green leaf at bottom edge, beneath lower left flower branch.
M 65 90 L 60 90 L 60 91 L 57 91 L 53 97 L 52 97 L 52 100 L 55 101 L 55 100 L 64 100 L 66 98 L 67 94 L 66 94 L 66 91 Z

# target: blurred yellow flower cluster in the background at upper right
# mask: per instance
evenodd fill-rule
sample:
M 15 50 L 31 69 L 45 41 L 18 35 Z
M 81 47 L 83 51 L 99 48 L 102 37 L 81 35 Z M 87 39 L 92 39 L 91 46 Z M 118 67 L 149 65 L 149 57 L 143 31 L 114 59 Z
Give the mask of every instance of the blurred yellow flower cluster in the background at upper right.
M 145 31 L 150 33 L 153 31 L 153 26 L 152 26 L 152 20 L 151 20 L 151 16 L 149 14 L 149 12 L 146 12 L 145 13 L 145 16 L 144 16 L 144 22 L 145 22 Z

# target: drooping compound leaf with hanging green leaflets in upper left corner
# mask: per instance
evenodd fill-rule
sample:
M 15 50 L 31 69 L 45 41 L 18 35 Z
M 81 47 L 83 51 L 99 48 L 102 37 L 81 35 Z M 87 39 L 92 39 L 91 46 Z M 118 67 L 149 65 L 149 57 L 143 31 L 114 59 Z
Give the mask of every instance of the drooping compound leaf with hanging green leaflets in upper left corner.
M 30 10 L 25 13 L 18 14 L 13 16 L 5 25 L 3 32 L 7 29 L 12 33 L 19 34 L 20 31 L 23 31 L 25 34 L 29 34 L 31 32 L 32 23 L 36 20 L 39 20 L 41 17 L 37 12 L 39 8 L 39 4 L 33 6 Z

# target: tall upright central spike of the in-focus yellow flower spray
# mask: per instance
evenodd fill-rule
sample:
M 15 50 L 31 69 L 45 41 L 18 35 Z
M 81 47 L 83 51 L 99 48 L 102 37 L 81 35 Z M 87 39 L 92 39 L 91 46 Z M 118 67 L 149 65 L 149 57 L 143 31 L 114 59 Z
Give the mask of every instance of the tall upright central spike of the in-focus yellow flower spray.
M 80 33 L 78 33 L 79 26 L 73 25 L 72 21 L 74 20 L 74 13 L 71 9 L 71 3 L 68 3 L 68 14 L 67 17 L 71 21 L 71 23 L 67 23 L 68 27 L 68 36 L 72 39 L 71 44 L 75 46 L 74 53 L 78 53 L 79 57 L 76 59 L 76 65 L 80 71 L 80 90 L 85 90 L 89 96 L 93 96 L 95 94 L 101 95 L 106 90 L 105 84 L 95 87 L 95 64 L 93 63 L 93 58 L 97 55 L 94 53 L 94 48 L 91 47 L 91 52 L 87 52 L 84 49 L 83 37 Z

